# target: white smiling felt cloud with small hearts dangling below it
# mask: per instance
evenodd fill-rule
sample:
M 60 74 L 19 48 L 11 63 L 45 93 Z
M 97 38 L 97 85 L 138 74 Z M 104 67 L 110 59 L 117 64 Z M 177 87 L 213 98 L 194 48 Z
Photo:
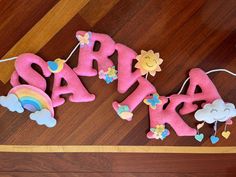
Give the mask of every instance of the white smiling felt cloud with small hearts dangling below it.
M 215 100 L 212 104 L 204 105 L 203 109 L 195 112 L 194 117 L 198 121 L 205 121 L 209 124 L 226 120 L 236 116 L 234 104 L 225 103 L 222 99 Z

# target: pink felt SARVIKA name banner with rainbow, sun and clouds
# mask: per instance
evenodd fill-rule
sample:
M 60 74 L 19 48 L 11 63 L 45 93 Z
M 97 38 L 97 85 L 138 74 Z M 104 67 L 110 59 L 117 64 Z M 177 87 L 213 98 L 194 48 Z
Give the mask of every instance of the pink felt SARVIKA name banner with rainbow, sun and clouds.
M 226 122 L 229 125 L 231 118 L 236 116 L 234 104 L 223 101 L 208 73 L 200 68 L 191 69 L 189 72 L 186 94 L 159 96 L 156 88 L 148 81 L 148 76 L 154 77 L 161 71 L 164 60 L 159 53 L 153 50 L 136 53 L 133 49 L 116 43 L 106 34 L 78 31 L 76 38 L 78 44 L 66 59 L 58 58 L 46 62 L 32 53 L 17 56 L 15 71 L 11 77 L 13 89 L 7 96 L 0 97 L 0 105 L 18 113 L 26 109 L 32 112 L 30 119 L 37 124 L 54 127 L 57 123 L 54 108 L 64 104 L 62 95 L 70 94 L 69 101 L 76 103 L 95 100 L 95 93 L 90 93 L 89 88 L 85 88 L 80 80 L 81 76 L 86 76 L 97 77 L 107 84 L 117 80 L 117 91 L 121 94 L 138 83 L 137 88 L 123 101 L 114 100 L 112 107 L 121 119 L 131 121 L 135 117 L 135 108 L 145 103 L 149 107 L 150 115 L 150 131 L 147 133 L 149 139 L 165 139 L 170 135 L 166 128 L 166 124 L 169 124 L 178 136 L 193 136 L 201 142 L 204 135 L 199 132 L 200 128 L 204 123 L 214 123 L 215 133 L 210 139 L 215 144 L 219 141 L 216 136 L 217 122 Z M 98 50 L 94 50 L 96 43 L 99 43 Z M 77 47 L 80 48 L 77 66 L 71 68 L 66 62 Z M 109 58 L 115 52 L 117 66 Z M 97 63 L 97 70 L 93 67 L 94 62 Z M 136 64 L 133 66 L 134 62 Z M 42 74 L 33 65 L 37 65 Z M 46 78 L 50 76 L 53 76 L 53 89 L 51 95 L 47 95 Z M 27 84 L 22 84 L 21 80 Z M 66 81 L 66 85 L 61 85 L 62 80 Z M 200 93 L 195 92 L 197 87 L 201 88 Z M 199 101 L 203 102 L 200 107 L 195 104 Z M 181 104 L 183 106 L 177 110 Z M 195 119 L 200 122 L 196 128 L 190 127 L 182 119 L 182 116 L 194 112 Z M 230 132 L 225 128 L 222 136 L 227 139 L 229 135 Z

